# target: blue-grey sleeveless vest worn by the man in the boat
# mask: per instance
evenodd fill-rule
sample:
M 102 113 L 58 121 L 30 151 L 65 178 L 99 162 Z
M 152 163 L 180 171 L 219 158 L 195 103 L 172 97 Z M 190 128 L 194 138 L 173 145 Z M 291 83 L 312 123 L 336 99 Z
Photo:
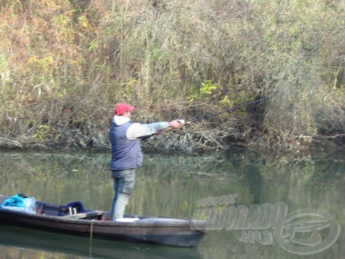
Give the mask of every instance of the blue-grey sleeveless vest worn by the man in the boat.
M 112 122 L 110 126 L 109 137 L 112 146 L 110 170 L 136 169 L 143 163 L 141 139 L 128 140 L 126 137 L 130 125 L 132 125 L 132 122 L 126 122 L 119 126 Z

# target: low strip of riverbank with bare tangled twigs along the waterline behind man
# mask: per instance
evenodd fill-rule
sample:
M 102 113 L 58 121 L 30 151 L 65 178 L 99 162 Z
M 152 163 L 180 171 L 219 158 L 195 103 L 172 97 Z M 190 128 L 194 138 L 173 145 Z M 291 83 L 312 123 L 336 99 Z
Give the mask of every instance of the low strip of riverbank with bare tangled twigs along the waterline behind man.
M 25 140 L 9 140 L 0 137 L 0 150 L 46 150 L 46 151 L 99 151 L 107 152 L 110 150 L 110 142 L 106 140 L 108 136 L 101 137 L 103 140 L 101 144 L 94 144 L 85 142 L 78 142 L 73 140 L 66 143 L 52 143 L 52 142 L 27 142 Z M 241 142 L 224 142 L 224 140 L 217 140 L 211 142 L 205 140 L 201 142 L 199 137 L 193 137 L 184 130 L 177 133 L 165 133 L 164 135 L 155 135 L 149 139 L 143 140 L 142 147 L 148 153 L 186 153 L 186 154 L 203 154 L 214 152 L 242 152 L 253 151 L 255 153 L 308 153 L 310 151 L 342 151 L 345 148 L 344 136 L 326 137 L 320 136 L 315 140 L 308 138 L 308 142 L 303 141 L 303 137 L 298 137 L 296 140 L 279 141 L 268 140 L 268 137 L 257 138 L 255 140 L 241 141 Z M 195 141 L 194 141 L 195 140 Z M 301 141 L 302 140 L 302 141 Z M 221 142 L 221 143 L 220 143 Z

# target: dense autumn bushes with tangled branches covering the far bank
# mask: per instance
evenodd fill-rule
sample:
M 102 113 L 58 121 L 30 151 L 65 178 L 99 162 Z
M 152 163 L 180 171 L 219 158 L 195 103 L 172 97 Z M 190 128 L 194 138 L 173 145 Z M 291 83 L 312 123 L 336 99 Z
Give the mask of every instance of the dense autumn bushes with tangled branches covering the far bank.
M 195 120 L 183 134 L 157 137 L 156 148 L 343 143 L 341 1 L 22 0 L 0 8 L 1 146 L 106 147 L 117 102 L 134 104 L 141 122 Z

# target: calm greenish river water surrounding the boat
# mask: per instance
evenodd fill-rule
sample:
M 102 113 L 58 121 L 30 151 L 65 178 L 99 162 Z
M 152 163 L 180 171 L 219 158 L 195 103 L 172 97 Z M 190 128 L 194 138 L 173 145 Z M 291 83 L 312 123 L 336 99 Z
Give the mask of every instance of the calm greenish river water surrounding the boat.
M 272 204 L 272 211 L 277 211 L 275 204 L 280 202 L 286 205 L 290 215 L 286 224 L 302 220 L 299 227 L 307 229 L 304 233 L 294 232 L 290 226 L 290 232 L 275 235 L 277 225 L 270 222 L 266 227 L 255 229 L 255 224 L 248 225 L 244 221 L 231 229 L 230 214 L 224 214 L 213 224 L 213 229 L 208 230 L 199 247 L 181 249 L 100 240 L 92 240 L 90 244 L 86 238 L 0 225 L 0 258 L 342 258 L 344 158 L 344 153 L 322 151 L 304 155 L 146 154 L 126 208 L 126 213 L 174 218 L 193 218 L 197 209 L 203 209 L 204 213 L 206 209 L 213 209 L 220 217 L 220 211 L 238 212 L 240 208 L 246 211 L 250 205 L 254 209 L 255 204 L 258 204 L 256 208 Z M 113 190 L 108 162 L 108 153 L 1 151 L 0 193 L 23 193 L 37 200 L 61 204 L 81 200 L 85 207 L 109 210 Z M 198 204 L 202 198 L 230 194 L 233 199 L 224 204 Z M 298 210 L 302 211 L 294 213 Z M 246 219 L 239 214 L 233 214 L 235 219 Z M 258 214 L 251 213 L 252 216 Z M 324 220 L 325 215 L 333 228 L 329 224 L 313 227 L 313 223 L 320 218 Z M 311 236 L 319 240 L 311 241 Z M 282 242 L 283 239 L 286 242 Z M 310 242 L 305 244 L 306 240 Z M 310 254 L 302 256 L 301 247 L 309 247 Z

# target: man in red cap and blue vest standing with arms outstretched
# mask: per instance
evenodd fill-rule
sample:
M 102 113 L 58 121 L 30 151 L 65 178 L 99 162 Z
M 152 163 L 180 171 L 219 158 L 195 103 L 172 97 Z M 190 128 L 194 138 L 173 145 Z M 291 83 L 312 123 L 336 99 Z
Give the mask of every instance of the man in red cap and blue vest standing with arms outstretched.
M 117 104 L 110 126 L 111 162 L 115 197 L 112 201 L 111 218 L 124 218 L 124 211 L 135 184 L 135 169 L 141 166 L 141 137 L 153 135 L 166 128 L 181 128 L 177 120 L 152 124 L 134 123 L 130 120 L 134 106 Z

